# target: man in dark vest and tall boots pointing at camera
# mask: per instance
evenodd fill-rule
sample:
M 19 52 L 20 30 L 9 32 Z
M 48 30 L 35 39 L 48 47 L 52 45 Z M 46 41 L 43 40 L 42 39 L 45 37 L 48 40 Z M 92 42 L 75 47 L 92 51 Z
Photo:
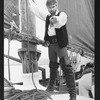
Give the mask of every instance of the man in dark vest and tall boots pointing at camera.
M 59 57 L 60 66 L 64 72 L 69 88 L 70 100 L 76 100 L 75 78 L 66 48 L 68 45 L 66 29 L 67 15 L 65 12 L 59 12 L 57 0 L 47 0 L 46 6 L 50 14 L 45 14 L 32 0 L 29 0 L 29 5 L 37 17 L 46 21 L 44 40 L 47 45 L 45 46 L 48 46 L 48 42 L 50 43 L 48 46 L 50 82 L 46 90 L 54 90 L 55 78 L 59 67 L 57 62 Z

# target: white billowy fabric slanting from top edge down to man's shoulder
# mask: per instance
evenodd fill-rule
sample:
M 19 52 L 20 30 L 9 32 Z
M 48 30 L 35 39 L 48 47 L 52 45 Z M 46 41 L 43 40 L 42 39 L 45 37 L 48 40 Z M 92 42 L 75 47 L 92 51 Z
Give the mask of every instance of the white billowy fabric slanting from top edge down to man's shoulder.
M 29 2 L 29 7 L 31 9 L 31 11 L 41 20 L 45 21 L 46 20 L 46 16 L 48 15 L 48 13 L 43 12 L 43 10 L 41 8 L 39 8 L 38 5 L 36 5 L 32 0 L 28 0 Z

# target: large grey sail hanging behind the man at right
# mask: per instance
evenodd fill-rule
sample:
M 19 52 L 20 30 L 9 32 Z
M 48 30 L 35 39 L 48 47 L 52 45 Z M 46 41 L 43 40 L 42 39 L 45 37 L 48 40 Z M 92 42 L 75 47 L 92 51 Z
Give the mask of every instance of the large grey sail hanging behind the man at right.
M 94 53 L 94 0 L 58 0 L 59 10 L 67 13 L 71 46 Z

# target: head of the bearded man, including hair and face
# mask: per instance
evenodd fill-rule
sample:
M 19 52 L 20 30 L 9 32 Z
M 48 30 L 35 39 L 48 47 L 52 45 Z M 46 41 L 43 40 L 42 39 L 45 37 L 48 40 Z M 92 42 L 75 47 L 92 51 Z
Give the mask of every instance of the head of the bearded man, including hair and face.
M 54 15 L 58 9 L 57 0 L 47 0 L 46 6 L 51 15 Z

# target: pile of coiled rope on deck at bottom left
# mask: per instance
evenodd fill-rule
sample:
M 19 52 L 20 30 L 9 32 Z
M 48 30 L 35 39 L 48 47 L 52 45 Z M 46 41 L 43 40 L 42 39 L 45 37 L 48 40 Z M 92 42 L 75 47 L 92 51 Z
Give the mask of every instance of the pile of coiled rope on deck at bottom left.
M 47 98 L 53 100 L 48 92 L 38 91 L 36 89 L 19 91 L 19 93 L 7 98 L 7 100 L 47 100 Z

